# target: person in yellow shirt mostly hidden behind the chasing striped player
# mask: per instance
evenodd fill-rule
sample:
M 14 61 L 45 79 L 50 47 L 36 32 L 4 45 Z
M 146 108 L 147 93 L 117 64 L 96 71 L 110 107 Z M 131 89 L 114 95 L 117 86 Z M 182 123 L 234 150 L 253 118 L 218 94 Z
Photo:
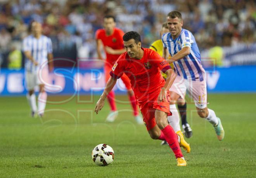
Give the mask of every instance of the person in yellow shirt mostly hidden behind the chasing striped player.
M 160 36 L 162 38 L 163 34 L 168 33 L 169 29 L 168 29 L 168 25 L 167 22 L 164 22 L 162 24 L 162 28 L 160 31 Z M 163 56 L 163 42 L 161 39 L 154 41 L 150 47 L 150 49 L 156 51 L 159 55 Z M 173 64 L 171 63 L 170 66 L 174 69 Z M 166 74 L 162 73 L 163 77 L 166 78 Z M 192 137 L 192 129 L 190 128 L 190 125 L 187 123 L 187 103 L 185 101 L 185 99 L 182 99 L 182 97 L 180 97 L 177 100 L 177 105 L 178 105 L 178 109 L 180 112 L 180 116 L 182 118 L 182 128 L 185 134 L 185 137 L 190 138 Z M 171 116 L 168 116 L 171 117 Z M 169 119 L 170 120 L 170 119 Z M 166 141 L 163 141 L 161 143 L 161 145 L 167 144 Z

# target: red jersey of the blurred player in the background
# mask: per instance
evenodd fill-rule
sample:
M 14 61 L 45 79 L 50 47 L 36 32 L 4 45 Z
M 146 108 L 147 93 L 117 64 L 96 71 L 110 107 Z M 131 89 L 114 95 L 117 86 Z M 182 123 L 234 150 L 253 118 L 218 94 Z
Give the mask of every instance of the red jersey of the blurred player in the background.
M 95 33 L 95 38 L 97 40 L 101 40 L 104 47 L 108 46 L 113 48 L 114 50 L 116 49 L 123 49 L 124 48 L 124 43 L 123 43 L 123 36 L 125 33 L 118 28 L 114 28 L 113 34 L 107 36 L 105 29 L 98 29 Z M 106 50 L 105 50 L 106 52 Z M 107 62 L 109 62 L 111 65 L 113 65 L 116 60 L 118 59 L 120 55 L 119 54 L 107 54 Z

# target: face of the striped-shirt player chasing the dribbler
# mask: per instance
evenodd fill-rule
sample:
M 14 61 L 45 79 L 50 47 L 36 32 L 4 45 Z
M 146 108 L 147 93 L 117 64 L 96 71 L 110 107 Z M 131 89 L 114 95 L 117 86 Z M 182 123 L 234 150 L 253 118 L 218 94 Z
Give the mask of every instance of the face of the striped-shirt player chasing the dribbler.
M 174 19 L 171 17 L 167 17 L 167 24 L 168 24 L 168 29 L 171 33 L 171 36 L 173 38 L 177 38 L 180 35 L 180 32 L 182 30 L 182 26 L 183 26 L 182 19 L 179 19 L 178 17 L 175 17 Z

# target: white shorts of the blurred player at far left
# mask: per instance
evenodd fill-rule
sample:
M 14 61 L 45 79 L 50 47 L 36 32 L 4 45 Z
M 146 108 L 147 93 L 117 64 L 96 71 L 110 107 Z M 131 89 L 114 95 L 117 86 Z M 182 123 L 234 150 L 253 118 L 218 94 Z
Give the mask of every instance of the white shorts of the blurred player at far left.
M 25 72 L 25 83 L 27 90 L 34 90 L 35 86 L 48 83 L 48 67 L 34 72 Z

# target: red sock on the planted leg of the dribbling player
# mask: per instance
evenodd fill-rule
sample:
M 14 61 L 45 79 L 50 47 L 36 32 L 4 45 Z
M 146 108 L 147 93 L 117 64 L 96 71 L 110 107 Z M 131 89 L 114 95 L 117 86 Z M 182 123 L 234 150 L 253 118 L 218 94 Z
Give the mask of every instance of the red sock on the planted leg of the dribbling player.
M 173 150 L 175 157 L 183 157 L 182 151 L 180 149 L 180 145 L 177 139 L 177 134 L 173 130 L 173 128 L 168 125 L 162 131 L 159 137 L 159 140 L 163 140 L 165 138 L 166 142 L 168 143 L 169 147 Z

